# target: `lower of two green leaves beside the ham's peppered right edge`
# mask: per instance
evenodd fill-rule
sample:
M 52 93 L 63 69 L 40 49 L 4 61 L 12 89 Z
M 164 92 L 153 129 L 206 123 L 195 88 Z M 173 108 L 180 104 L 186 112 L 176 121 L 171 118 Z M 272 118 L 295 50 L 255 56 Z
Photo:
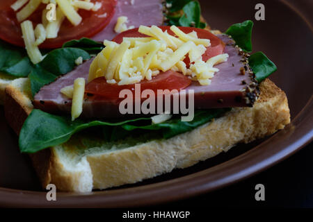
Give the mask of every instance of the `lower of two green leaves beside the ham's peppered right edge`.
M 276 65 L 269 60 L 261 51 L 254 53 L 249 58 L 249 65 L 260 83 L 268 76 L 277 71 Z

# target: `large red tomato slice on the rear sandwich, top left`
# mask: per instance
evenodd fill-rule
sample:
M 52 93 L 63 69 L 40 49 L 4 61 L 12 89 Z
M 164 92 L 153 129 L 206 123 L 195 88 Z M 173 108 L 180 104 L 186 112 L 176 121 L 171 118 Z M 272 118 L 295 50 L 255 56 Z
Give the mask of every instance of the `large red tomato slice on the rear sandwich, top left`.
M 16 19 L 16 12 L 10 8 L 15 1 L 16 0 L 1 1 L 0 39 L 17 46 L 24 46 L 21 27 Z M 92 37 L 99 33 L 99 31 L 102 31 L 109 24 L 114 15 L 117 0 L 97 0 L 97 2 L 102 3 L 102 7 L 97 10 L 97 12 L 94 12 L 93 10 L 79 10 L 79 15 L 83 18 L 81 24 L 73 26 L 67 19 L 65 19 L 58 32 L 58 37 L 46 40 L 40 44 L 40 48 L 59 48 L 67 41 L 74 39 L 79 40 L 81 37 Z M 45 5 L 42 4 L 28 18 L 33 22 L 34 27 L 41 23 L 42 10 L 44 8 Z M 106 17 L 103 16 L 105 13 Z

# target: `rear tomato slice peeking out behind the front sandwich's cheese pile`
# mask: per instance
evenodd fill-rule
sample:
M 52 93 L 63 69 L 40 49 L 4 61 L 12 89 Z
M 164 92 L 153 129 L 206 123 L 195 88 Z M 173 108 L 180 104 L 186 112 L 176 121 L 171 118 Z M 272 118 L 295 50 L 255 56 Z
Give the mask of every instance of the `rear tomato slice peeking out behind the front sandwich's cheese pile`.
M 170 35 L 175 35 L 171 30 L 170 26 L 160 26 L 163 31 L 168 31 Z M 193 31 L 198 33 L 198 37 L 202 39 L 207 39 L 211 41 L 211 46 L 207 47 L 207 51 L 202 55 L 202 60 L 207 61 L 209 58 L 214 56 L 218 56 L 223 53 L 225 48 L 225 43 L 220 40 L 216 35 L 212 34 L 210 31 L 207 31 L 202 28 L 193 28 L 193 27 L 179 27 L 184 33 L 191 33 Z M 113 42 L 117 42 L 120 44 L 123 41 L 123 37 L 147 37 L 142 33 L 138 32 L 138 28 L 131 29 L 129 31 L 125 31 L 117 35 Z M 188 58 L 185 60 L 186 64 L 188 64 Z

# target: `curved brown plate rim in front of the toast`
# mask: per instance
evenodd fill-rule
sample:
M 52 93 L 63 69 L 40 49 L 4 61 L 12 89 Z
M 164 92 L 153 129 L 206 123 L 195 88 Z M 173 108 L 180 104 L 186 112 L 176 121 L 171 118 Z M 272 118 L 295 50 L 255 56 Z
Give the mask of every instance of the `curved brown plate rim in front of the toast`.
M 23 191 L 0 187 L 0 205 L 7 207 L 138 207 L 141 205 L 155 205 L 166 201 L 179 200 L 180 198 L 188 198 L 204 192 L 214 191 L 253 176 L 260 171 L 264 171 L 274 164 L 285 160 L 297 151 L 300 151 L 301 148 L 312 142 L 313 119 L 310 119 L 310 116 L 313 116 L 313 96 L 311 96 L 307 105 L 305 105 L 303 110 L 291 121 L 286 129 L 275 133 L 275 135 L 266 139 L 261 144 L 231 160 L 227 160 L 209 169 L 191 173 L 187 176 L 157 182 L 151 185 L 110 191 L 93 191 L 86 194 L 59 192 L 57 201 L 53 202 L 46 200 L 45 195 L 47 193 L 44 191 Z M 293 128 L 299 127 L 304 128 L 305 133 L 298 133 L 297 130 L 293 130 Z M 262 155 L 257 156 L 261 161 L 255 161 L 255 158 L 249 158 L 250 155 L 258 154 L 258 151 L 261 151 L 262 147 L 268 148 L 266 144 L 270 143 L 276 137 L 284 138 L 285 133 L 291 133 L 289 139 L 295 136 L 299 138 L 295 139 L 294 143 L 288 146 L 284 146 L 282 140 L 274 141 L 275 145 L 280 145 L 282 148 L 278 148 L 277 146 L 275 148 L 277 151 L 269 157 L 266 154 L 264 155 L 264 153 L 263 157 Z M 248 162 L 246 164 L 238 164 L 238 162 L 243 162 L 247 159 Z M 230 167 L 234 168 L 230 169 Z M 231 173 L 231 171 L 235 173 Z M 219 173 L 222 173 L 223 176 L 218 176 Z M 217 177 L 217 179 L 212 180 L 214 177 Z M 149 196 L 149 203 L 147 203 L 147 196 Z

